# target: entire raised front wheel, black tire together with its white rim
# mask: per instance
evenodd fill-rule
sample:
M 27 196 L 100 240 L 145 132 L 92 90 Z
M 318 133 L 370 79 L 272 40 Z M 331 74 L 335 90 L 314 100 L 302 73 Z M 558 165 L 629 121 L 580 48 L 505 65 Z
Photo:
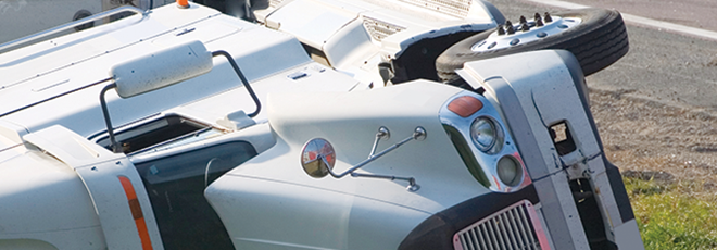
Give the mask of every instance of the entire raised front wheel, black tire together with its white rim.
M 455 70 L 465 62 L 540 49 L 570 51 L 588 76 L 613 64 L 629 50 L 625 23 L 617 11 L 591 8 L 544 16 L 536 13 L 533 21 L 520 18 L 518 25 L 508 21 L 450 47 L 436 60 L 438 77 L 444 83 L 457 78 Z M 543 25 L 538 25 L 539 22 Z M 524 32 L 524 23 L 529 30 Z M 507 30 L 508 26 L 514 32 Z M 504 33 L 499 35 L 499 28 Z

